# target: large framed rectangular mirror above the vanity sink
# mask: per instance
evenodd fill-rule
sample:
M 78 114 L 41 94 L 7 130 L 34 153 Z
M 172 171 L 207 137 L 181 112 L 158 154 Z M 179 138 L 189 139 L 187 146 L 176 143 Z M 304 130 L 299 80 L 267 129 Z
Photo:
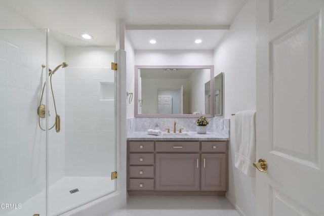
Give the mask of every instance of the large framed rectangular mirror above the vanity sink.
M 135 66 L 135 117 L 214 117 L 214 66 Z

